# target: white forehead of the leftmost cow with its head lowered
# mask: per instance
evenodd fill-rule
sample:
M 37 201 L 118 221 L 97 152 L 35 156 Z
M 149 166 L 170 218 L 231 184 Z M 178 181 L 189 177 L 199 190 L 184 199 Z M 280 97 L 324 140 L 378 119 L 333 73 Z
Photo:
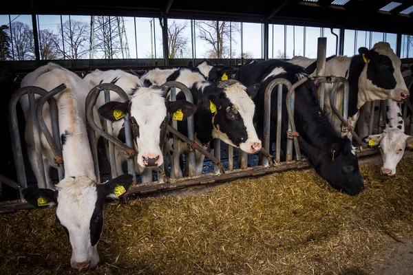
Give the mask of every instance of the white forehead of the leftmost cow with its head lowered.
M 59 192 L 56 214 L 61 224 L 69 232 L 76 227 L 88 228 L 98 199 L 95 182 L 88 177 L 70 177 L 62 179 L 56 190 Z

